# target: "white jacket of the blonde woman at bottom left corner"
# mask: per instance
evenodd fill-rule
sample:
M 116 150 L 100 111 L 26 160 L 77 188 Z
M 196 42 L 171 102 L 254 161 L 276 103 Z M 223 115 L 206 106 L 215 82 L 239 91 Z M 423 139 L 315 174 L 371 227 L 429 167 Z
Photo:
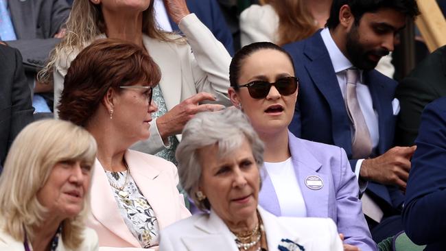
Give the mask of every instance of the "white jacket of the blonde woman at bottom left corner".
M 96 251 L 98 250 L 97 245 L 97 235 L 91 228 L 85 228 L 82 233 L 84 240 L 80 244 L 77 250 L 82 251 Z M 0 251 L 25 251 L 25 246 L 23 246 L 23 240 L 17 241 L 12 238 L 11 235 L 0 230 Z M 62 239 L 59 239 L 57 251 L 74 251 L 69 248 L 65 248 Z

